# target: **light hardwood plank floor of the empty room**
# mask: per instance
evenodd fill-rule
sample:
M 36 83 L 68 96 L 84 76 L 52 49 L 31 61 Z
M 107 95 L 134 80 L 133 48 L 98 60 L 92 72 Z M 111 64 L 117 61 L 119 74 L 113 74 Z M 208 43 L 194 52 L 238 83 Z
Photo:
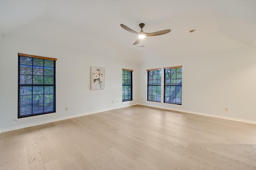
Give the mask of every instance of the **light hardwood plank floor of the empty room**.
M 256 125 L 130 106 L 0 134 L 0 170 L 255 170 Z

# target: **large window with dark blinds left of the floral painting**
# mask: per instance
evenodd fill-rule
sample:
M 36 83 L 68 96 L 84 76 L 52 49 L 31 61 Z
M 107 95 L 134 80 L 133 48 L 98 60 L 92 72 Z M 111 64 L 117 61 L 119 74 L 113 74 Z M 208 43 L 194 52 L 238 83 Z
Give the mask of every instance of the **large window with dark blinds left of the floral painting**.
M 18 53 L 18 118 L 56 112 L 56 60 Z

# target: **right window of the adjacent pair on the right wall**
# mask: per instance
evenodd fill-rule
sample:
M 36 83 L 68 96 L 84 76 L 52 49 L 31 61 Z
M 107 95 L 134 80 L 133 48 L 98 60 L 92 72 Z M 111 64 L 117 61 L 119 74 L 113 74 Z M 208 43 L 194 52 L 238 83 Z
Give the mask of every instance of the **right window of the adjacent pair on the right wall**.
M 164 103 L 182 104 L 182 66 L 164 68 Z

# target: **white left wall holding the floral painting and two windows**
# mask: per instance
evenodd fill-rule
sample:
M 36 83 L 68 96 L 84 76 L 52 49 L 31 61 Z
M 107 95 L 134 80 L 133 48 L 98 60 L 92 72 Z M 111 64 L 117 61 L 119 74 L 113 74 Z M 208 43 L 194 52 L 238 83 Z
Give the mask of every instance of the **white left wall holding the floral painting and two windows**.
M 137 64 L 5 35 L 1 37 L 0 52 L 0 131 L 129 106 L 137 102 Z M 18 106 L 18 53 L 57 58 L 56 115 L 18 122 L 15 120 Z M 90 90 L 90 66 L 105 68 L 105 90 Z M 132 102 L 122 103 L 122 68 L 134 70 Z M 65 107 L 68 107 L 68 111 L 65 111 Z

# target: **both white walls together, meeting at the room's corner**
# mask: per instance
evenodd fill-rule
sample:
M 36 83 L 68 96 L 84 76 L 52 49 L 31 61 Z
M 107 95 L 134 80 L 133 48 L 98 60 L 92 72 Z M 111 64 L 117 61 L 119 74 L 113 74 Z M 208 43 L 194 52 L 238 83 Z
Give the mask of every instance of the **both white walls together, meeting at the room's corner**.
M 104 51 L 92 53 L 91 50 L 86 53 L 86 50 L 71 50 L 3 34 L 0 38 L 0 132 L 137 103 L 256 122 L 256 46 L 199 55 L 185 54 L 184 51 L 173 53 L 172 50 L 148 51 L 143 56 L 132 56 L 141 57 L 142 63 L 136 64 L 111 58 L 110 51 L 115 51 L 114 46 L 102 56 L 99 54 L 104 54 Z M 114 55 L 122 54 L 118 50 Z M 56 115 L 18 122 L 15 120 L 18 105 L 18 53 L 58 59 Z M 125 55 L 127 57 L 129 54 Z M 180 65 L 183 66 L 182 106 L 147 102 L 146 70 Z M 105 68 L 105 90 L 90 90 L 90 66 Z M 122 68 L 134 70 L 134 101 L 123 104 Z M 68 107 L 68 111 L 65 111 L 65 107 Z M 229 111 L 225 111 L 225 107 Z

